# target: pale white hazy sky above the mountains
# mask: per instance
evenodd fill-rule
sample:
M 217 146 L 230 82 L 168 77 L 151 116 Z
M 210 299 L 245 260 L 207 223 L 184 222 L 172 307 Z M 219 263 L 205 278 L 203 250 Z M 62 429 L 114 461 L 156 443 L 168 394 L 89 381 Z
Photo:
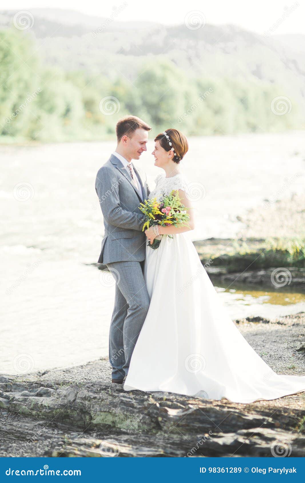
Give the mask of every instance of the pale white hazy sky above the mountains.
M 63 8 L 78 10 L 84 14 L 109 17 L 112 8 L 125 0 L 1 0 L 0 9 L 30 10 L 31 8 Z M 162 24 L 183 24 L 186 15 L 198 11 L 208 24 L 235 24 L 263 34 L 274 24 L 273 35 L 284 33 L 305 34 L 305 0 L 189 0 L 179 4 L 176 0 L 126 0 L 128 4 L 117 16 L 119 21 L 154 21 Z M 291 11 L 291 7 L 295 8 Z M 288 14 L 288 15 L 285 15 Z M 279 18 L 282 22 L 278 22 Z

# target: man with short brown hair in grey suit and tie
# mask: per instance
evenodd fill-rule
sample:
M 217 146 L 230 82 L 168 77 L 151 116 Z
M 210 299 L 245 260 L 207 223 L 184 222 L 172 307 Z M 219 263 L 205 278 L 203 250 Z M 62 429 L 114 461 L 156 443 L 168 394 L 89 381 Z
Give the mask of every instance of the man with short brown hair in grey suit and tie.
M 109 330 L 112 382 L 123 384 L 131 354 L 149 307 L 144 280 L 146 220 L 139 210 L 149 195 L 145 172 L 131 160 L 146 151 L 150 127 L 136 116 L 116 124 L 116 150 L 98 170 L 95 190 L 104 219 L 99 263 L 107 265 L 116 280 L 115 307 Z

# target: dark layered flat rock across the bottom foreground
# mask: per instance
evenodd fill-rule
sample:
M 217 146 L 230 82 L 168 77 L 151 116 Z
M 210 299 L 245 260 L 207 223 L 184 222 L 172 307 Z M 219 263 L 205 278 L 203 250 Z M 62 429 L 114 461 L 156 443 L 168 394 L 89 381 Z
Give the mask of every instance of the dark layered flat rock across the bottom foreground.
M 285 441 L 291 456 L 302 456 L 302 400 L 301 408 L 275 408 L 269 401 L 237 404 L 126 392 L 98 381 L 42 383 L 0 377 L 2 432 L 15 440 L 48 440 L 43 455 L 49 456 L 271 456 L 278 441 Z

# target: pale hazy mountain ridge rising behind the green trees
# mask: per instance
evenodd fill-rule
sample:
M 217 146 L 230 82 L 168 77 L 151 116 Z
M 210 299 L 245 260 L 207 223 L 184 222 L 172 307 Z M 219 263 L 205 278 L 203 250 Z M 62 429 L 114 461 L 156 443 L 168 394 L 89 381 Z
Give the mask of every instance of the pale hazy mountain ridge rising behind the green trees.
M 122 2 L 123 5 L 123 2 Z M 0 27 L 12 25 L 17 11 L 0 12 Z M 189 76 L 258 79 L 293 94 L 305 107 L 305 35 L 265 38 L 235 25 L 164 26 L 122 22 L 72 10 L 31 9 L 29 29 L 46 63 L 64 70 L 115 73 L 131 80 L 147 61 L 167 58 Z M 280 28 L 278 29 L 280 30 Z

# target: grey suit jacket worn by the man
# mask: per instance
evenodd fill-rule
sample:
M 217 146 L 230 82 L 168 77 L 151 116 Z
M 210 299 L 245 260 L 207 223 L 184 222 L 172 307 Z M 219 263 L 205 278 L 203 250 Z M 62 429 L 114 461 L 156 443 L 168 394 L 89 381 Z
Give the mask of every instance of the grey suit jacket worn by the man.
M 134 170 L 146 199 L 150 193 L 146 174 L 139 168 Z M 116 156 L 111 155 L 98 170 L 95 190 L 105 227 L 98 263 L 144 260 L 146 236 L 142 228 L 146 217 L 138 208 L 143 199 L 129 169 Z

